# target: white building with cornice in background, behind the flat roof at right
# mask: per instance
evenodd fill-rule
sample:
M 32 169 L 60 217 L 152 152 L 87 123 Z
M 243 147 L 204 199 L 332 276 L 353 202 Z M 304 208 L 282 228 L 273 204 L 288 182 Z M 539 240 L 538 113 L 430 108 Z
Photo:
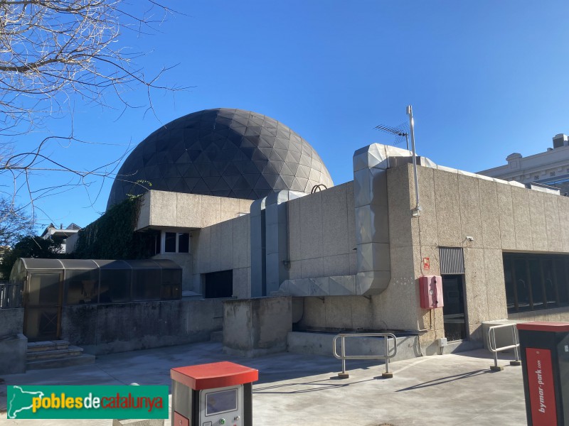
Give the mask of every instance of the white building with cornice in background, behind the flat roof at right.
M 537 183 L 560 189 L 561 195 L 569 192 L 569 138 L 560 133 L 553 136 L 553 148 L 544 153 L 522 157 L 511 153 L 508 164 L 482 170 L 479 175 L 503 180 L 516 180 L 523 184 Z

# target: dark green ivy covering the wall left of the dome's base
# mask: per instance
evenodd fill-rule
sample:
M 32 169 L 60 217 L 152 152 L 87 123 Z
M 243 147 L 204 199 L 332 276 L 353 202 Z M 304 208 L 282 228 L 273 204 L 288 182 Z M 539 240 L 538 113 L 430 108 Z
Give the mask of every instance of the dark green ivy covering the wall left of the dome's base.
M 73 257 L 139 259 L 154 254 L 155 233 L 134 232 L 142 197 L 128 197 L 79 231 Z

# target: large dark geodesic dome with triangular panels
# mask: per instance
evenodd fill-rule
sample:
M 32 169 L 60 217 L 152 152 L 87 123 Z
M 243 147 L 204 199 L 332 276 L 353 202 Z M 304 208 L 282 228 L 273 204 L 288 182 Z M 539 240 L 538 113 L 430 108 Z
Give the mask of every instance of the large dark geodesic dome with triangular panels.
M 316 185 L 334 183 L 314 148 L 288 126 L 243 109 L 206 109 L 139 143 L 119 169 L 107 208 L 147 189 L 257 200 Z

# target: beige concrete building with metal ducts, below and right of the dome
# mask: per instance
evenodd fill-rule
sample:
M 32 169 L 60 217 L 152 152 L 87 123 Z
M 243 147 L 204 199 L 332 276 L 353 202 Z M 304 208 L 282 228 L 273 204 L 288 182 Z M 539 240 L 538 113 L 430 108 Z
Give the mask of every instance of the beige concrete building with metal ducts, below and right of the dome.
M 186 290 L 293 297 L 297 330 L 408 332 L 435 354 L 442 337 L 482 345 L 483 322 L 569 320 L 569 197 L 419 163 L 419 214 L 410 153 L 373 144 L 352 182 L 313 194 L 151 190 L 137 229 L 188 232 L 189 253 L 159 254 Z M 443 308 L 421 307 L 425 275 L 442 276 Z

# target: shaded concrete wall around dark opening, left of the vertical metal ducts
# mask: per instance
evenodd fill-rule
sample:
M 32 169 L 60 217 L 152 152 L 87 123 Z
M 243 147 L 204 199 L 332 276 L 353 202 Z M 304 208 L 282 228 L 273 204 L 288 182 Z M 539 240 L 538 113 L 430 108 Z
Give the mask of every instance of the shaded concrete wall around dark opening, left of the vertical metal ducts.
M 236 217 L 193 231 L 191 290 L 202 293 L 201 274 L 233 269 L 233 295 L 251 295 L 250 219 Z

